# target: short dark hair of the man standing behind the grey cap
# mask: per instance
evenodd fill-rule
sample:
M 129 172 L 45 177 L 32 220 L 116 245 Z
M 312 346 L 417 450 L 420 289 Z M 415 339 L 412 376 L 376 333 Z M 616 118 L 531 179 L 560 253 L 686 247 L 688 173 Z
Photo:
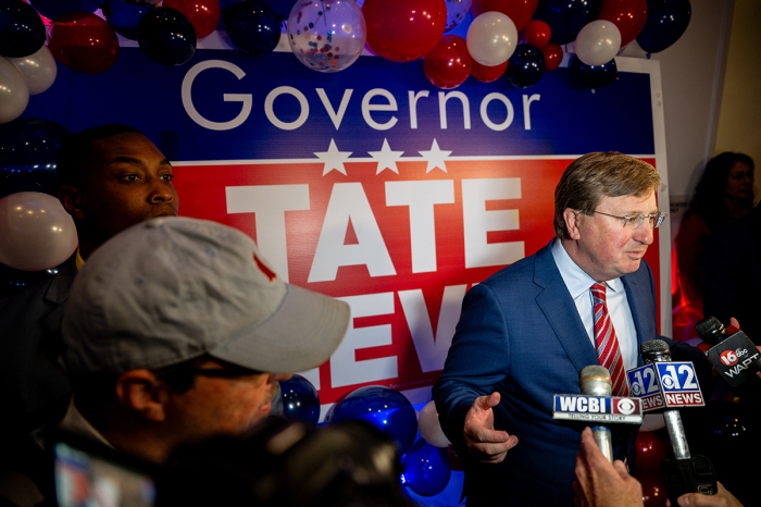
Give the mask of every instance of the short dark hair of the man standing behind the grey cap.
M 92 144 L 95 141 L 128 132 L 145 136 L 137 128 L 122 125 L 121 123 L 111 123 L 86 128 L 67 137 L 58 150 L 55 158 L 55 175 L 59 186 L 77 186 L 83 183 L 83 169 L 92 161 L 92 154 L 95 153 Z

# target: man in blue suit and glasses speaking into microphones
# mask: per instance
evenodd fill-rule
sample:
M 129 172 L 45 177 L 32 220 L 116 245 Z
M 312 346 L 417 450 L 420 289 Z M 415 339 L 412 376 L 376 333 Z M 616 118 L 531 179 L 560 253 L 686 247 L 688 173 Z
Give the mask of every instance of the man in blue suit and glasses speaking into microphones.
M 641 363 L 643 342 L 668 341 L 641 261 L 665 217 L 656 169 L 632 157 L 581 157 L 556 188 L 557 237 L 467 292 L 434 398 L 464 460 L 469 505 L 573 504 L 582 428 L 552 419 L 552 395 L 579 393 L 579 371 L 601 363 L 590 287 L 606 286 L 623 370 Z M 704 363 L 697 349 L 668 343 L 675 357 Z M 633 465 L 636 432 L 615 430 L 616 459 Z

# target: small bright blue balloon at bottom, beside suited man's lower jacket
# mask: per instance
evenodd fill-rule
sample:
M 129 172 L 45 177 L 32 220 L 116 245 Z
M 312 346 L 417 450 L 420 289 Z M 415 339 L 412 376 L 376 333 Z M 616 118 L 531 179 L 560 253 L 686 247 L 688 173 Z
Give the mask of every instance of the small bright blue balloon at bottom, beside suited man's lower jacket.
M 419 440 L 404 456 L 403 474 L 404 484 L 419 495 L 438 495 L 452 477 L 447 449 L 434 447 L 423 438 Z

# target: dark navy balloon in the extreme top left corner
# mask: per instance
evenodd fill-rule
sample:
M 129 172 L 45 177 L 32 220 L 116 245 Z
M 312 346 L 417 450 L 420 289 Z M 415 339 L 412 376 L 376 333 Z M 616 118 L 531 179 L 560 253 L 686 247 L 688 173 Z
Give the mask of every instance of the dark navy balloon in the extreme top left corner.
M 45 23 L 32 5 L 0 0 L 0 55 L 28 57 L 45 44 Z

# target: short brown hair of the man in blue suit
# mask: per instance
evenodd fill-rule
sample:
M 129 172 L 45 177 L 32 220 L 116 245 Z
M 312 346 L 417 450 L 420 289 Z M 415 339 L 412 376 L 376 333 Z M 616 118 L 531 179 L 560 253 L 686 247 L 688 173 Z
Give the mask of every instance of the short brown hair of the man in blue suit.
M 554 234 L 569 237 L 566 208 L 591 214 L 603 197 L 637 196 L 656 191 L 661 176 L 656 168 L 617 151 L 592 152 L 569 165 L 554 189 Z

